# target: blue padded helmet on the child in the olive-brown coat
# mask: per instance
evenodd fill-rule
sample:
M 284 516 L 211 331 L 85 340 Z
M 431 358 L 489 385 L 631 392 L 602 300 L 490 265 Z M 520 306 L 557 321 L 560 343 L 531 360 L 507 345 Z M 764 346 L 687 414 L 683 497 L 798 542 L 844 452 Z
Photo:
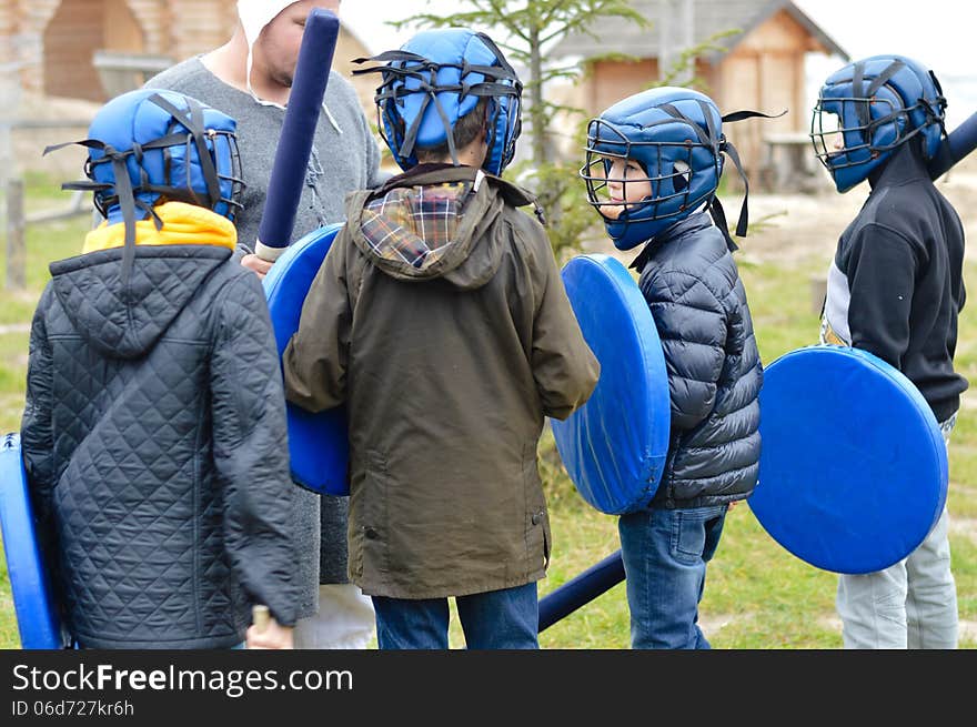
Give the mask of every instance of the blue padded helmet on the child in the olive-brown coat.
M 466 28 L 425 30 L 387 51 L 354 62 L 383 65 L 353 73 L 382 74 L 376 89 L 380 132 L 404 171 L 417 164 L 416 149 L 446 144 L 457 163 L 453 130 L 479 100 L 490 100 L 488 153 L 482 168 L 501 174 L 512 161 L 521 131 L 522 82 L 484 33 Z

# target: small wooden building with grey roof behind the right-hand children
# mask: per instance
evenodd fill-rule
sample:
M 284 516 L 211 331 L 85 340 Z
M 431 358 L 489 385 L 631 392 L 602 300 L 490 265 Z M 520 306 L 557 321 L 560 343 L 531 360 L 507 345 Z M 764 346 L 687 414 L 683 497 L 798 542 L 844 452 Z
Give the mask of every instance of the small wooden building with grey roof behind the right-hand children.
M 772 143 L 806 142 L 814 105 L 805 88 L 807 53 L 848 58 L 789 0 L 636 0 L 632 4 L 651 21 L 649 28 L 608 17 L 593 26 L 594 37 L 571 36 L 554 47 L 551 55 L 555 58 L 594 59 L 587 61 L 578 103 L 595 115 L 655 84 L 684 50 L 703 43 L 719 46 L 722 50 L 696 58 L 695 75 L 723 113 L 788 110 L 779 119 L 741 121 L 726 130 L 751 175 L 765 171 Z M 610 58 L 610 53 L 628 59 Z

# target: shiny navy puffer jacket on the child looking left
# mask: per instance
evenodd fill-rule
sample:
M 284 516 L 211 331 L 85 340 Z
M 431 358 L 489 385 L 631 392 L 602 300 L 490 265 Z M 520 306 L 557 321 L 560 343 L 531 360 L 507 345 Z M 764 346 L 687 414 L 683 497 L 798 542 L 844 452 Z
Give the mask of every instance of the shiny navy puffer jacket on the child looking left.
M 759 468 L 763 365 L 746 291 L 704 212 L 658 234 L 635 260 L 668 370 L 672 441 L 652 505 L 748 497 Z

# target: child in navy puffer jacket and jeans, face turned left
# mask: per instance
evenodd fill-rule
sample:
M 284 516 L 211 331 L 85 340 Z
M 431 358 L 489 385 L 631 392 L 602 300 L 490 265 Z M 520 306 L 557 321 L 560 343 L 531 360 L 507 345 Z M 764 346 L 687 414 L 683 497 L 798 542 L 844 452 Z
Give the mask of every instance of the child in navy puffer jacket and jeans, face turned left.
M 723 121 L 708 97 L 658 88 L 587 127 L 587 199 L 618 250 L 641 246 L 631 266 L 668 372 L 661 483 L 647 506 L 618 519 L 636 649 L 709 648 L 697 623 L 706 566 L 727 508 L 757 481 L 763 366 L 715 196 L 723 154 L 737 161 Z M 737 234 L 745 232 L 744 201 Z

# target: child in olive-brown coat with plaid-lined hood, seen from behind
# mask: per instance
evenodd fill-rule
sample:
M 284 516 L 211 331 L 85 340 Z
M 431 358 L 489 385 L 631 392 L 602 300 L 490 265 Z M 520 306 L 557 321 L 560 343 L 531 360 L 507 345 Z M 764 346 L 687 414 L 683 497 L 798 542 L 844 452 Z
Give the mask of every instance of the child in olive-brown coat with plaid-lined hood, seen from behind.
M 345 403 L 350 577 L 382 649 L 537 648 L 551 548 L 545 416 L 597 380 L 533 204 L 498 174 L 521 83 L 492 40 L 424 31 L 383 53 L 381 129 L 403 174 L 351 195 L 283 355 L 285 394 Z

